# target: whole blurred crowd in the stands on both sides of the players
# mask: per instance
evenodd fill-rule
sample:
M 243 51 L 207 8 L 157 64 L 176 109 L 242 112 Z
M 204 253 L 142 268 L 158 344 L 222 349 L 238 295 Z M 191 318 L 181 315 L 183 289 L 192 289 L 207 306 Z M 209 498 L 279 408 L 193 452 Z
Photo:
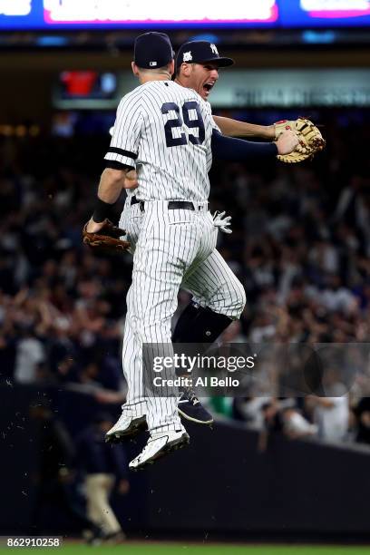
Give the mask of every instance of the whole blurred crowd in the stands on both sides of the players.
M 370 159 L 358 146 L 367 144 L 369 131 L 350 119 L 339 122 L 336 114 L 323 117 L 327 149 L 316 161 L 215 161 L 210 171 L 211 209 L 226 209 L 233 222 L 232 235 L 219 234 L 219 250 L 248 298 L 225 341 L 369 341 Z M 0 139 L 4 382 L 63 384 L 106 403 L 124 399 L 121 346 L 131 255 L 95 256 L 81 241 L 108 141 Z M 178 314 L 189 300 L 180 293 Z M 370 371 L 366 357 L 365 364 L 351 365 L 355 361 L 346 358 L 346 368 L 330 368 L 326 397 L 313 391 L 305 402 L 281 399 L 277 376 L 273 391 L 252 390 L 250 397 L 214 406 L 260 430 L 369 443 Z M 348 393 L 343 373 L 351 371 Z M 331 436 L 330 418 L 341 420 Z

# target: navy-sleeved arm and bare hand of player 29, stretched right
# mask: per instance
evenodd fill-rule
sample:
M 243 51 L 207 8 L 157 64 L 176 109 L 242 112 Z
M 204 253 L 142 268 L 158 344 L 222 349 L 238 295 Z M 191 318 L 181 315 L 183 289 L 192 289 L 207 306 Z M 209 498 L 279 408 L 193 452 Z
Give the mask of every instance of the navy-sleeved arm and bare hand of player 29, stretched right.
M 212 133 L 212 154 L 219 160 L 248 161 L 273 158 L 296 149 L 299 141 L 293 131 L 284 131 L 276 142 L 251 142 L 225 137 L 219 131 Z

